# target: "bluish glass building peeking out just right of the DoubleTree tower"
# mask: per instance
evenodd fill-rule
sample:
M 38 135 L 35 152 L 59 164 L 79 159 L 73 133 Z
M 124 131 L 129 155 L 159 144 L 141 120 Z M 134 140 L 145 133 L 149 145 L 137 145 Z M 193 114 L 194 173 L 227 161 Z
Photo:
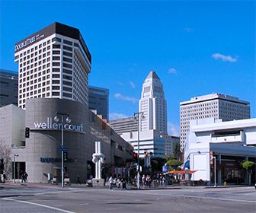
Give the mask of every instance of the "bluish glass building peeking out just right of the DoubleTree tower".
M 108 121 L 109 90 L 101 87 L 89 86 L 89 109 L 96 110 L 102 119 Z

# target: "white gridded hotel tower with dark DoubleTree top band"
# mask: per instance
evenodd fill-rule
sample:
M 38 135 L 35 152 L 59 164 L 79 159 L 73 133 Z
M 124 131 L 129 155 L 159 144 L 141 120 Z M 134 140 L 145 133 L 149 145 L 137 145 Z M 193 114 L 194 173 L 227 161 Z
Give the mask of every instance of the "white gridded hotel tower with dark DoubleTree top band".
M 18 62 L 18 106 L 26 100 L 54 97 L 88 106 L 91 54 L 76 28 L 51 24 L 15 44 Z

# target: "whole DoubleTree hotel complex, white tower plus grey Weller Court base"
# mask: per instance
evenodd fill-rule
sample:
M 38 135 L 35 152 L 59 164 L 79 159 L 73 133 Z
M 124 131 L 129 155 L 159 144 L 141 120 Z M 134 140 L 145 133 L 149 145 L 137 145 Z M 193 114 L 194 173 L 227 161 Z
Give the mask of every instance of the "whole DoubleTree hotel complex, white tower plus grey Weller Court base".
M 82 182 L 94 176 L 95 141 L 101 141 L 109 165 L 103 174 L 124 174 L 122 165 L 133 156 L 133 146 L 88 109 L 91 54 L 79 30 L 53 23 L 16 43 L 14 56 L 19 107 L 0 107 L 5 120 L 0 122 L 0 140 L 11 146 L 13 161 L 18 155 L 16 178 L 27 171 L 30 183 L 47 183 L 48 173 L 60 181 L 62 139 L 68 152 L 64 176 L 71 182 L 78 174 Z

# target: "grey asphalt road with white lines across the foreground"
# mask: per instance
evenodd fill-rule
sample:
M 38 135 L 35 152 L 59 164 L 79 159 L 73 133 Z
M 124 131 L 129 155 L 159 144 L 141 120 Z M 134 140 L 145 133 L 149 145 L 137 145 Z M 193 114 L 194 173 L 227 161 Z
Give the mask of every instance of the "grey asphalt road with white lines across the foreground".
M 254 187 L 117 190 L 0 185 L 0 212 L 256 212 Z

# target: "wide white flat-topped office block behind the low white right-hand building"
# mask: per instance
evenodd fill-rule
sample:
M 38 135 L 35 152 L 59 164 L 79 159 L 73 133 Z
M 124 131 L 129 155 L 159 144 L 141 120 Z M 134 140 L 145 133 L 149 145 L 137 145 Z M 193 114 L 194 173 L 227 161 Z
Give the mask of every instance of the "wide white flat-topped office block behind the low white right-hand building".
M 184 149 L 190 120 L 215 118 L 222 121 L 250 118 L 250 103 L 226 94 L 207 94 L 180 103 L 181 150 Z

